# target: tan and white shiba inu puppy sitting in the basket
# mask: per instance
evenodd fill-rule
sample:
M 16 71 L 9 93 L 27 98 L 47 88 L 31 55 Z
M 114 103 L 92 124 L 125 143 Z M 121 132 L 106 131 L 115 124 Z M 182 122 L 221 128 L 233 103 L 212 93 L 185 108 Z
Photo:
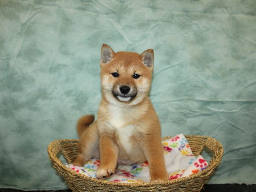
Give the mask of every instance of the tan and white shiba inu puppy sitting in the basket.
M 82 116 L 77 123 L 79 152 L 74 165 L 100 157 L 96 176 L 106 178 L 117 165 L 149 164 L 151 181 L 168 180 L 160 122 L 148 97 L 153 49 L 142 54 L 101 50 L 102 101 L 98 119 Z M 94 121 L 94 122 L 93 122 Z

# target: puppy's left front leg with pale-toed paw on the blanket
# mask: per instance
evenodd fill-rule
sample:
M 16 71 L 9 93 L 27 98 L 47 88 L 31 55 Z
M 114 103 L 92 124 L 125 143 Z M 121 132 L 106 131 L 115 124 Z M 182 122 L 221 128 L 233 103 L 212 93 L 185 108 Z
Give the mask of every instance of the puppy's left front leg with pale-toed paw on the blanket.
M 99 138 L 100 166 L 96 171 L 96 177 L 106 178 L 116 170 L 116 163 L 119 148 L 111 137 L 102 136 Z

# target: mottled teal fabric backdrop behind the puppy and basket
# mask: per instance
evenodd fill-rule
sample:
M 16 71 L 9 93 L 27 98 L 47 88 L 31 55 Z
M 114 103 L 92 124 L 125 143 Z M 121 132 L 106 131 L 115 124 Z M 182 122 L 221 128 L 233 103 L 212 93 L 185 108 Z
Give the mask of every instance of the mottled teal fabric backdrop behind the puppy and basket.
M 0 0 L 0 188 L 67 187 L 47 145 L 97 113 L 103 43 L 154 49 L 162 135 L 224 146 L 209 183 L 256 183 L 255 0 Z

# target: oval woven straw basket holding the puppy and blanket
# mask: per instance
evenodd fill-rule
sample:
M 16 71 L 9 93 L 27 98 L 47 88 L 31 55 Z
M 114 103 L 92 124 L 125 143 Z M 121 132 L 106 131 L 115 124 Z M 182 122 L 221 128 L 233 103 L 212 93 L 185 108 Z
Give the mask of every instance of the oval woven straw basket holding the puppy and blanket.
M 215 168 L 221 162 L 223 147 L 221 143 L 211 137 L 187 135 L 185 136 L 195 156 L 203 151 L 204 147 L 212 151 L 213 156 L 207 169 L 188 177 L 180 177 L 169 181 L 145 182 L 145 183 L 118 183 L 87 177 L 74 172 L 61 163 L 57 157 L 62 152 L 68 163 L 73 162 L 77 155 L 78 140 L 55 140 L 48 146 L 48 154 L 53 167 L 65 178 L 73 192 L 199 192 L 212 175 Z M 164 137 L 162 140 L 171 137 Z

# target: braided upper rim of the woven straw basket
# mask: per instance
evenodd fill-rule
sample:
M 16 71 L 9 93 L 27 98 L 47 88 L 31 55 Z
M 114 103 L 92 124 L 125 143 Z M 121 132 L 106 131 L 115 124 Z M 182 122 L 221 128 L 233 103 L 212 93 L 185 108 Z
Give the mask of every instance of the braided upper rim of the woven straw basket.
M 61 143 L 63 142 L 70 142 L 70 143 L 77 143 L 79 140 L 78 139 L 61 139 L 61 140 L 54 140 L 52 141 L 47 148 L 48 154 L 49 154 L 49 159 L 52 160 L 52 162 L 56 163 L 58 166 L 61 167 L 61 169 L 63 169 L 65 172 L 68 172 L 70 175 L 75 175 L 76 177 L 81 177 L 84 180 L 89 180 L 91 182 L 97 183 L 97 184 L 107 184 L 107 185 L 111 185 L 111 186 L 129 186 L 129 187 L 143 187 L 143 186 L 156 186 L 156 185 L 161 185 L 161 186 L 167 186 L 173 183 L 179 183 L 182 181 L 186 181 L 186 180 L 191 180 L 195 177 L 199 177 L 200 175 L 206 175 L 209 176 L 211 175 L 211 173 L 214 171 L 214 169 L 219 165 L 220 161 L 221 161 L 221 157 L 223 155 L 224 149 L 221 145 L 221 143 L 219 143 L 218 140 L 215 140 L 212 137 L 207 137 L 207 136 L 203 136 L 203 135 L 185 135 L 186 138 L 202 138 L 205 140 L 210 140 L 214 143 L 216 143 L 218 145 L 218 149 L 217 151 L 219 152 L 219 158 L 217 160 L 215 160 L 215 162 L 210 162 L 209 166 L 204 169 L 203 171 L 200 171 L 198 173 L 195 173 L 193 175 L 189 175 L 187 177 L 180 177 L 177 179 L 173 179 L 173 180 L 168 180 L 168 181 L 157 181 L 157 182 L 142 182 L 142 183 L 119 183 L 119 182 L 114 182 L 114 181 L 107 181 L 107 180 L 102 180 L 102 179 L 97 179 L 97 178 L 93 178 L 93 177 L 88 177 L 84 174 L 81 173 L 77 173 L 75 171 L 73 171 L 72 169 L 68 168 L 67 166 L 65 166 L 63 163 L 61 163 L 61 160 L 58 159 L 53 153 L 51 148 L 54 145 L 61 145 Z M 171 136 L 166 136 L 163 137 L 162 140 L 166 140 L 172 138 Z M 212 151 L 212 150 L 211 150 Z M 217 152 L 215 151 L 215 153 Z M 214 151 L 212 151 L 214 152 Z

